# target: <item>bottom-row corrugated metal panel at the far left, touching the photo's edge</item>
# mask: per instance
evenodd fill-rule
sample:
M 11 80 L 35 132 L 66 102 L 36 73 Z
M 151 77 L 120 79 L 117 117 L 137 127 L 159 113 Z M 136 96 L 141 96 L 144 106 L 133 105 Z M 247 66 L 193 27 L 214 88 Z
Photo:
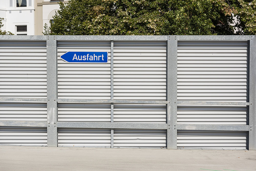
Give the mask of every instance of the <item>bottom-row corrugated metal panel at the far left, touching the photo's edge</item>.
M 0 144 L 47 145 L 47 128 L 0 126 Z

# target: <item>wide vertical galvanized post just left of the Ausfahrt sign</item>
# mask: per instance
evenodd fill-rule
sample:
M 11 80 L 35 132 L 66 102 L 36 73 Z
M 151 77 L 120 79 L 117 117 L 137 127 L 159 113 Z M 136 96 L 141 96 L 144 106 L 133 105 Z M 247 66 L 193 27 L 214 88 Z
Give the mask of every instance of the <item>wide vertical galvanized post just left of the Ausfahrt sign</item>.
M 47 146 L 57 147 L 57 40 L 47 36 Z

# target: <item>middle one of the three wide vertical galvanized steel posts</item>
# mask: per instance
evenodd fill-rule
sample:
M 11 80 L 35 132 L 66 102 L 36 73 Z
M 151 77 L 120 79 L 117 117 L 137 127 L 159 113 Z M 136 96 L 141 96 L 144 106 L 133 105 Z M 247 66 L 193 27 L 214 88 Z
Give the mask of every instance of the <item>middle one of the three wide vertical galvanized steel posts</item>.
M 167 37 L 167 149 L 177 149 L 177 36 Z

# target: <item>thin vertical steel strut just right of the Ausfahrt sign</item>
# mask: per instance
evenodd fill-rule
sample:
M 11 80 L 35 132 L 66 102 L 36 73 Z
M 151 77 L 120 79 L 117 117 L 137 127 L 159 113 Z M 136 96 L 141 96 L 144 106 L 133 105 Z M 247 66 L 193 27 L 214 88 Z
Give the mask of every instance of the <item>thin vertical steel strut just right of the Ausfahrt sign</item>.
M 114 41 L 111 40 L 111 100 L 114 100 Z M 114 122 L 114 103 L 111 103 L 111 122 Z M 114 148 L 114 129 L 111 129 L 111 148 Z

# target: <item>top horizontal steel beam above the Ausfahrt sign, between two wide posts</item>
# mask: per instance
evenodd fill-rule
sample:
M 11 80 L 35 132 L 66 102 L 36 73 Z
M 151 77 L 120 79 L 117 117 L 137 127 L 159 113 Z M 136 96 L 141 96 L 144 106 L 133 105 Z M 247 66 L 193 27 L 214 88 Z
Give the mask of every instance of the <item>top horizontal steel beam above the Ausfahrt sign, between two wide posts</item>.
M 167 40 L 167 36 L 56 36 L 57 40 Z

